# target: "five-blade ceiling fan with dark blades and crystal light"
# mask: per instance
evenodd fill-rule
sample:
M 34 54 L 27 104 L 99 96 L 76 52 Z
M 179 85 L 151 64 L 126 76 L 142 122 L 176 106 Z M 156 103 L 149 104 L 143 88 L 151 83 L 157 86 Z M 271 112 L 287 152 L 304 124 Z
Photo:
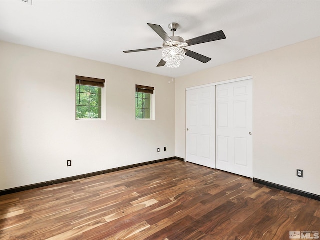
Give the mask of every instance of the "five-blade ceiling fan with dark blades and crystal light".
M 157 66 L 164 66 L 166 64 L 168 67 L 171 67 L 171 68 L 179 67 L 180 62 L 184 59 L 185 55 L 192 57 L 198 61 L 201 61 L 203 63 L 207 63 L 209 60 L 211 60 L 211 58 L 207 56 L 203 56 L 194 51 L 185 49 L 184 47 L 226 38 L 224 35 L 224 32 L 222 30 L 219 30 L 209 34 L 205 34 L 203 36 L 198 36 L 189 40 L 184 40 L 182 37 L 174 35 L 174 32 L 179 27 L 179 24 L 176 22 L 172 22 L 169 24 L 169 29 L 170 31 L 173 32 L 172 36 L 168 36 L 168 34 L 166 34 L 166 32 L 163 30 L 163 28 L 160 25 L 151 24 L 151 23 L 147 23 L 147 24 L 163 39 L 163 45 L 161 47 L 136 49 L 136 50 L 123 51 L 123 52 L 129 53 L 129 52 L 162 49 L 162 59 L 157 64 Z

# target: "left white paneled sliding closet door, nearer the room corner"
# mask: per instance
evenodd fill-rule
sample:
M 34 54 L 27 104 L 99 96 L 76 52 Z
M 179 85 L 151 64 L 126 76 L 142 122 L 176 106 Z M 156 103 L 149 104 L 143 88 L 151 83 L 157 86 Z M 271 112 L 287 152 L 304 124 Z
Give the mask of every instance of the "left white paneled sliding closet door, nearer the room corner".
M 215 168 L 215 87 L 186 91 L 186 161 Z

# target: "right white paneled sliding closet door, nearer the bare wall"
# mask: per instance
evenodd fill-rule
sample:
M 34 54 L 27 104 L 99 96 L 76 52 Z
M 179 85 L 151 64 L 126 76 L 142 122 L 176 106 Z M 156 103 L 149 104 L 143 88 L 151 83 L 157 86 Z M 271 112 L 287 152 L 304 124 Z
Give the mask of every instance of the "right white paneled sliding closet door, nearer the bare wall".
M 216 85 L 216 168 L 252 177 L 252 80 Z

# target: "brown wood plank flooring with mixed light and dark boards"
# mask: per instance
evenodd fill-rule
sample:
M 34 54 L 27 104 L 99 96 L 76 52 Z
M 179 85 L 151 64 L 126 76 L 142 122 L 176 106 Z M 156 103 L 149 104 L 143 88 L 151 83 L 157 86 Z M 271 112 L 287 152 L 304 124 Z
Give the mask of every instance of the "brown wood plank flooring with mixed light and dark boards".
M 289 231 L 320 231 L 320 202 L 179 160 L 0 196 L 1 240 L 289 239 Z

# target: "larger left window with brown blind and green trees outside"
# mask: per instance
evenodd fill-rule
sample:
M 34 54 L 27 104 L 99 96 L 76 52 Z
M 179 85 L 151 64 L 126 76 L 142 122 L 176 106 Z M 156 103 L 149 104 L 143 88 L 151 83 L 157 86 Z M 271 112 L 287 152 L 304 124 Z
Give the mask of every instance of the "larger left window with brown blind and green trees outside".
M 76 119 L 102 118 L 102 87 L 104 79 L 75 76 Z

